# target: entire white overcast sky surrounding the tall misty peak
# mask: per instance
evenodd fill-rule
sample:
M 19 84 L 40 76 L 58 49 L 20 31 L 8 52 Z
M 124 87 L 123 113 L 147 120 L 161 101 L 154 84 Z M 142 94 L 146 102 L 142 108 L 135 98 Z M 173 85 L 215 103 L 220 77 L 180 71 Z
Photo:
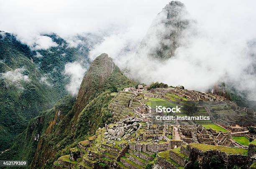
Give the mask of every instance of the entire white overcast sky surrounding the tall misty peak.
M 92 47 L 90 58 L 108 53 L 120 67 L 132 58 L 148 27 L 169 0 L 1 0 L 0 30 L 17 34 L 20 41 L 35 49 L 56 44 L 40 36 L 54 32 L 76 45 L 74 35 L 98 34 L 102 41 Z M 254 0 L 183 0 L 189 15 L 197 21 L 197 37 L 183 39 L 188 48 L 179 48 L 176 58 L 147 70 L 150 77 L 169 85 L 205 90 L 218 80 L 242 82 L 239 86 L 255 89 L 255 75 L 247 75 L 253 59 L 248 59 L 247 42 L 256 38 L 256 1 Z M 187 32 L 189 33 L 189 32 Z M 129 52 L 124 52 L 124 51 Z M 201 66 L 199 65 L 207 65 Z M 183 64 L 172 77 L 163 76 L 173 63 Z M 151 64 L 148 62 L 148 65 Z M 169 65 L 168 65 L 169 64 Z M 128 67 L 133 68 L 132 65 Z M 143 71 L 142 71 L 143 72 Z M 143 73 L 145 73 L 143 72 Z M 176 75 L 177 74 L 177 75 Z M 181 78 L 182 77 L 182 78 Z M 245 85 L 246 84 L 246 85 Z M 255 96 L 255 90 L 253 96 Z

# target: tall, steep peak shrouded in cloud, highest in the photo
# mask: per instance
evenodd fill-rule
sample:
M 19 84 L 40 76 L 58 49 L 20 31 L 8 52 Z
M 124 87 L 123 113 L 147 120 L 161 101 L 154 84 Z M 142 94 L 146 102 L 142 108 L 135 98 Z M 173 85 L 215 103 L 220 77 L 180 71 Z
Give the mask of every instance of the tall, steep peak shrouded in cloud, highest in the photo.
M 146 36 L 143 38 L 138 55 L 148 55 L 157 59 L 168 59 L 179 46 L 179 37 L 189 25 L 185 19 L 185 5 L 172 1 L 156 16 Z

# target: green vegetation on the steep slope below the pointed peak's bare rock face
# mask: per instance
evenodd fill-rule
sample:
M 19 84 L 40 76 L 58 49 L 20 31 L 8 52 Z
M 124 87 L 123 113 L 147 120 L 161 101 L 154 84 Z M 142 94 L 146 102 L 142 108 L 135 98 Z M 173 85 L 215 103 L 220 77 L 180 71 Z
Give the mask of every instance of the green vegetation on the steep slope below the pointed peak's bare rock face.
M 94 82 L 95 79 L 92 81 Z M 105 80 L 103 87 L 91 88 L 94 90 L 91 93 L 94 97 L 83 107 L 82 112 L 79 112 L 77 119 L 75 119 L 74 98 L 68 99 L 68 97 L 60 100 L 53 109 L 42 112 L 31 120 L 31 124 L 23 134 L 15 139 L 10 151 L 0 154 L 0 157 L 3 157 L 1 159 L 27 159 L 32 168 L 40 168 L 42 164 L 45 164 L 44 167 L 50 168 L 54 161 L 69 154 L 71 148 L 79 142 L 87 140 L 95 133 L 96 129 L 103 127 L 105 123 L 113 122 L 112 114 L 108 111 L 109 102 L 114 97 L 111 93 L 133 85 L 136 85 L 136 82 L 123 76 L 119 68 L 116 67 Z M 88 97 L 90 96 L 88 95 Z M 72 102 L 68 100 L 72 100 Z M 59 110 L 61 110 L 61 116 L 56 115 Z M 35 124 L 39 125 L 35 126 Z M 38 133 L 40 138 L 38 141 L 34 141 L 34 136 Z M 81 143 L 87 144 L 86 142 Z M 116 147 L 119 148 L 118 144 Z

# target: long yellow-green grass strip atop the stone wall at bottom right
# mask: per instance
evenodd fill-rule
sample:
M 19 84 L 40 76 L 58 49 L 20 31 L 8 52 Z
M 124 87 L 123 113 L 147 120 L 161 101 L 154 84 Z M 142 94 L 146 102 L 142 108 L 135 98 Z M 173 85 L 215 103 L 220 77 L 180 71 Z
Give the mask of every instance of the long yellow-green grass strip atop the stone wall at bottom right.
M 248 149 L 214 146 L 214 145 L 200 144 L 200 143 L 191 143 L 191 144 L 188 144 L 188 146 L 200 149 L 204 152 L 207 150 L 219 150 L 220 152 L 225 152 L 227 154 L 244 154 L 244 155 L 247 155 L 247 152 L 248 152 Z

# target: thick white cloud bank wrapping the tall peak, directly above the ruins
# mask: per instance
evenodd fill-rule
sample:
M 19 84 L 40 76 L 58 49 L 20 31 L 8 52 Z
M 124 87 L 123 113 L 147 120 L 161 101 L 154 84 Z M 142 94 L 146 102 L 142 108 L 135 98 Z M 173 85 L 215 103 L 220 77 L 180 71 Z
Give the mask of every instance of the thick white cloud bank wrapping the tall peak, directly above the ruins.
M 256 45 L 249 44 L 256 42 L 256 33 L 253 30 L 255 23 L 249 18 L 256 19 L 256 15 L 251 15 L 255 12 L 250 3 L 187 3 L 188 12 L 183 17 L 195 22 L 182 32 L 179 47 L 170 59 L 163 62 L 149 56 L 151 50 L 159 47 L 159 42 L 164 40 L 161 32 L 173 29 L 165 27 L 164 23 L 154 27 L 157 18 L 147 32 L 151 36 L 146 39 L 147 44 L 143 49 L 139 49 L 136 36 L 128 31 L 104 38 L 91 50 L 90 57 L 93 59 L 100 51 L 106 52 L 121 69 L 128 70 L 131 77 L 147 84 L 159 81 L 205 91 L 217 82 L 225 82 L 239 91 L 247 92 L 248 98 L 255 100 Z M 227 7 L 231 10 L 227 11 Z M 202 8 L 205 15 L 198 8 Z M 164 14 L 159 17 L 166 17 Z M 133 43 L 129 43 L 130 39 Z

